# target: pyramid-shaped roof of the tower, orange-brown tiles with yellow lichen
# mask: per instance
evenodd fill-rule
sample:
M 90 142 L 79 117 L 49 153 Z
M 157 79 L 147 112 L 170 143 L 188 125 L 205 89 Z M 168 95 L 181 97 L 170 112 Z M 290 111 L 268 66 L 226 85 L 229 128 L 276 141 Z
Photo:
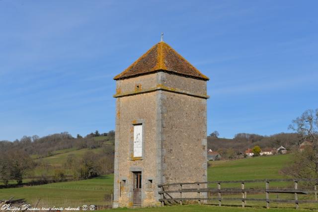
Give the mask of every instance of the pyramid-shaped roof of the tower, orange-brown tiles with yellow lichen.
M 160 70 L 209 80 L 207 76 L 203 75 L 164 42 L 157 43 L 125 71 L 115 76 L 114 79 L 121 79 Z

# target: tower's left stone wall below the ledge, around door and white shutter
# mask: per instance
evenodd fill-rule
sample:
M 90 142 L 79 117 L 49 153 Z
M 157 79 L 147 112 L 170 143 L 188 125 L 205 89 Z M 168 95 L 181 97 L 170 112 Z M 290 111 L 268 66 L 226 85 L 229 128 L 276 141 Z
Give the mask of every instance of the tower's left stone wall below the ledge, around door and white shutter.
M 115 206 L 132 206 L 133 171 L 142 171 L 142 204 L 156 204 L 156 96 L 156 92 L 150 92 L 116 100 Z M 133 157 L 134 124 L 143 124 L 144 152 L 141 159 Z M 153 182 L 151 188 L 149 180 Z

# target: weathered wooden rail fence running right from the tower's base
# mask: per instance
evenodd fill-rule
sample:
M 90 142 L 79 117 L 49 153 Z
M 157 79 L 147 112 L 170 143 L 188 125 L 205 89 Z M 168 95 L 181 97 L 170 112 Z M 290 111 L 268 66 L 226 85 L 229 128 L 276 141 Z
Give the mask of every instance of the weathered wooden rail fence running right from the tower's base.
M 270 182 L 293 182 L 294 188 L 284 188 L 284 189 L 271 189 Z M 299 182 L 312 183 L 313 189 L 299 189 Z M 221 183 L 239 183 L 239 188 L 225 188 L 221 189 Z M 265 189 L 245 189 L 245 183 L 264 183 Z M 207 184 L 207 185 L 204 185 Z M 216 184 L 217 189 L 209 188 L 209 185 Z M 207 187 L 207 188 L 200 188 Z M 204 186 L 203 186 L 204 185 Z M 182 205 L 182 201 L 198 201 L 201 204 L 203 201 L 208 200 L 217 200 L 219 206 L 222 206 L 222 201 L 241 201 L 242 207 L 245 207 L 246 201 L 257 201 L 257 202 L 266 202 L 266 208 L 269 208 L 269 203 L 295 203 L 295 208 L 299 208 L 300 203 L 318 203 L 317 201 L 317 185 L 318 179 L 271 179 L 271 180 L 242 180 L 242 181 L 210 181 L 210 182 L 195 182 L 195 183 L 171 183 L 171 184 L 160 184 L 159 194 L 161 198 L 159 201 L 162 206 L 165 202 L 169 203 L 178 203 Z M 183 186 L 183 187 L 182 187 Z M 191 188 L 184 188 L 184 187 Z M 178 189 L 169 190 L 170 187 L 177 187 Z M 168 188 L 168 190 L 167 190 Z M 191 198 L 182 197 L 184 193 L 192 193 Z M 194 197 L 194 193 L 197 193 L 197 197 Z M 217 194 L 216 198 L 212 198 L 212 193 Z M 222 194 L 241 194 L 241 198 L 223 198 Z M 265 199 L 257 198 L 247 198 L 247 194 L 265 194 Z M 270 193 L 276 194 L 294 194 L 294 199 L 269 199 Z M 202 195 L 203 194 L 203 195 Z M 205 194 L 205 195 L 204 195 Z M 299 200 L 299 195 L 315 195 L 315 200 Z M 174 197 L 173 197 L 174 196 Z M 176 196 L 178 196 L 176 198 Z M 189 195 L 188 195 L 189 196 Z

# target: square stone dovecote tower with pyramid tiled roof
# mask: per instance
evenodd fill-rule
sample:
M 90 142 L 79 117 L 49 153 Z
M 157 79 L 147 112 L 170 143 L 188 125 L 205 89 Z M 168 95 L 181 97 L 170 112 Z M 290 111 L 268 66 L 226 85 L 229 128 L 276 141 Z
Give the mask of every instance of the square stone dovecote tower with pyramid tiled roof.
M 160 204 L 158 184 L 207 181 L 209 78 L 161 41 L 114 79 L 114 207 Z

